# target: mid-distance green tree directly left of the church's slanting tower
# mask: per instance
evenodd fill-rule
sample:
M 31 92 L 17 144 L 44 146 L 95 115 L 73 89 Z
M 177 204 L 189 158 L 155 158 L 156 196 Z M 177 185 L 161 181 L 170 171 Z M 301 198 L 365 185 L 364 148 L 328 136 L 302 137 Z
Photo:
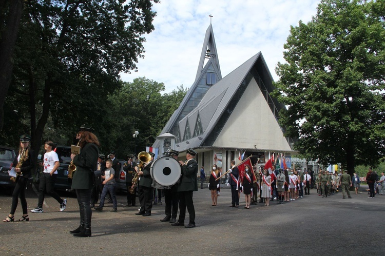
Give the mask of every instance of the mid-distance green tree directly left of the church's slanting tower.
M 145 150 L 146 146 L 151 146 L 187 92 L 180 86 L 177 90 L 162 95 L 164 89 L 163 83 L 138 77 L 132 83 L 123 83 L 108 98 L 113 115 L 119 116 L 119 124 L 114 126 L 115 129 L 112 130 L 115 132 L 109 136 L 111 147 L 118 152 L 119 157 L 133 153 L 135 141 L 132 134 L 136 130 L 139 131 L 137 153 Z

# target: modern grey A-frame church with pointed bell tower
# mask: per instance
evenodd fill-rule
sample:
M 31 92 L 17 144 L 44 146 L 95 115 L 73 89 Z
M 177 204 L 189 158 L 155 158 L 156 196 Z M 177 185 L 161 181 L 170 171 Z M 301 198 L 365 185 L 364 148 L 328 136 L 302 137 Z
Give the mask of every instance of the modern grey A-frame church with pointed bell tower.
M 252 155 L 265 163 L 270 155 L 282 155 L 290 166 L 293 140 L 283 135 L 279 111 L 285 106 L 271 92 L 273 77 L 261 52 L 222 78 L 211 24 L 206 35 L 194 84 L 157 137 L 153 148 L 159 156 L 168 149 L 198 152 L 198 165 L 217 164 L 224 171 L 230 161 Z

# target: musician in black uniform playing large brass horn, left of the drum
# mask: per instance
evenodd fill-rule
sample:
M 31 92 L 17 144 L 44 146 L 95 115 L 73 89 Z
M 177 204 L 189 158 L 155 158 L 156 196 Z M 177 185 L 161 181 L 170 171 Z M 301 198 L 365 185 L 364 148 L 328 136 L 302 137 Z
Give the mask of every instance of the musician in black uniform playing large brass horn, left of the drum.
M 140 211 L 136 215 L 150 216 L 152 209 L 152 178 L 150 167 L 153 162 L 154 153 L 148 152 L 151 155 L 151 161 L 144 164 L 139 174 L 138 197 L 140 202 Z

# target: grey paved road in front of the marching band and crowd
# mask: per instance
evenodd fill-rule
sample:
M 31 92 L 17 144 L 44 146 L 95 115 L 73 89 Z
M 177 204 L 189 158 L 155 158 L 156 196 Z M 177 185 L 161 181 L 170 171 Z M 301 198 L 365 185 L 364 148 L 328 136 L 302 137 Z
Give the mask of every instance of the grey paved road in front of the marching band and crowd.
M 69 234 L 79 225 L 79 208 L 74 196 L 62 192 L 68 199 L 64 212 L 47 196 L 44 213 L 31 213 L 29 222 L 0 223 L 0 255 L 383 255 L 385 195 L 368 199 L 364 189 L 353 199 L 341 193 L 322 199 L 312 189 L 295 202 L 251 209 L 229 208 L 229 189 L 221 189 L 213 207 L 209 190 L 199 189 L 197 227 L 191 229 L 160 222 L 164 205 L 153 206 L 151 216 L 134 215 L 138 207 L 124 207 L 125 195 L 119 194 L 118 212 L 108 211 L 112 204 L 93 211 L 91 238 Z M 32 189 L 27 196 L 33 209 L 37 196 Z M 2 192 L 2 219 L 10 205 L 11 196 Z M 21 211 L 19 204 L 15 218 Z

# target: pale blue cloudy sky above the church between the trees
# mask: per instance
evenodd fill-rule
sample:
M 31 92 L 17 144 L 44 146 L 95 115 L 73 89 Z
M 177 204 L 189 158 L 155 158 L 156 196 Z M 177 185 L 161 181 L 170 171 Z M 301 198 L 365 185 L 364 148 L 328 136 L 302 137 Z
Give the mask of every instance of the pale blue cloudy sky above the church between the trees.
M 146 34 L 138 72 L 124 82 L 146 77 L 165 84 L 163 93 L 190 88 L 197 74 L 206 29 L 213 25 L 222 77 L 261 52 L 274 81 L 290 26 L 311 21 L 320 0 L 161 0 L 153 5 L 155 30 Z

